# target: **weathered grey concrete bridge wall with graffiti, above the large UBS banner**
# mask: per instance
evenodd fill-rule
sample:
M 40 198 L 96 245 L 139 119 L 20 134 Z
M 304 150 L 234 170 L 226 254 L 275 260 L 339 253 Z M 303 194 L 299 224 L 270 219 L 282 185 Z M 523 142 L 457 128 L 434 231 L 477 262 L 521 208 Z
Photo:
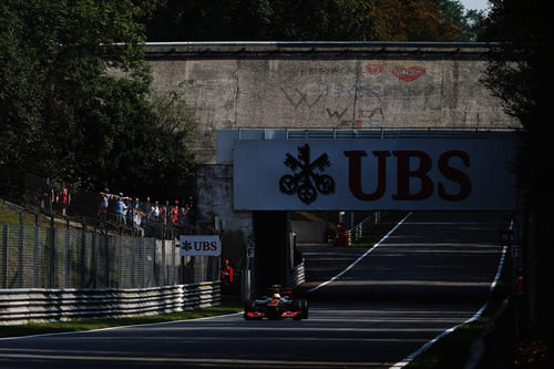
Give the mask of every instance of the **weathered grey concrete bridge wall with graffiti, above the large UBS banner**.
M 192 80 L 195 145 L 216 162 L 216 130 L 515 127 L 481 83 L 486 43 L 152 43 L 158 91 Z

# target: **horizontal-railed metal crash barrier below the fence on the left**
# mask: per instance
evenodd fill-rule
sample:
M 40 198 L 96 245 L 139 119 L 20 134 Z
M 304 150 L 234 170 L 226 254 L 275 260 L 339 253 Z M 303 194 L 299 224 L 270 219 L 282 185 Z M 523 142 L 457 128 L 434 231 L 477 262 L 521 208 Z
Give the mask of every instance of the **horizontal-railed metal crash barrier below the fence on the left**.
M 0 289 L 0 325 L 168 314 L 219 303 L 219 281 L 143 289 Z

